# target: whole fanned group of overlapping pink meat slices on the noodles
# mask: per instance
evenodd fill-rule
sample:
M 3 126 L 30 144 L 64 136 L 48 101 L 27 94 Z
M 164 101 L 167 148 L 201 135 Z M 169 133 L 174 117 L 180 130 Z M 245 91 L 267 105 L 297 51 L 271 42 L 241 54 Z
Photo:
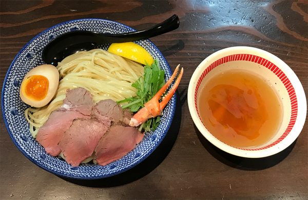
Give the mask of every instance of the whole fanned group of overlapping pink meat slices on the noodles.
M 133 150 L 144 134 L 127 126 L 132 113 L 111 99 L 93 104 L 84 88 L 67 92 L 63 105 L 38 130 L 36 140 L 52 156 L 63 152 L 73 167 L 97 156 L 99 165 L 120 159 Z

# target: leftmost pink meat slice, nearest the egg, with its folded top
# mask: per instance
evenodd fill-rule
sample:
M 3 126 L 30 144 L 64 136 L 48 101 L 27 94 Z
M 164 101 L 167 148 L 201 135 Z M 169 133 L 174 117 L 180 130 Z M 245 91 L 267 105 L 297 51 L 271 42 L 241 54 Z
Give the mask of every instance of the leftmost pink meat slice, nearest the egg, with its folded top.
M 74 119 L 91 117 L 93 102 L 91 94 L 84 88 L 71 89 L 67 92 L 64 105 L 53 111 L 48 120 L 38 130 L 36 140 L 52 156 L 61 153 L 59 142 L 64 132 Z

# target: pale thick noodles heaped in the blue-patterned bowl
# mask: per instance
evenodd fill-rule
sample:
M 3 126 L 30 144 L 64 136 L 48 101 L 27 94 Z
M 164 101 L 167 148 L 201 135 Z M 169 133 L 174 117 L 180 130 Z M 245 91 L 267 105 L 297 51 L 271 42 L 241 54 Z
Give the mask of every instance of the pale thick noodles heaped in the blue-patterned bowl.
M 25 110 L 34 138 L 50 113 L 62 106 L 67 90 L 83 87 L 91 93 L 94 103 L 104 99 L 120 101 L 136 96 L 137 89 L 131 84 L 143 74 L 142 65 L 102 49 L 72 54 L 56 68 L 60 82 L 54 99 L 44 107 Z

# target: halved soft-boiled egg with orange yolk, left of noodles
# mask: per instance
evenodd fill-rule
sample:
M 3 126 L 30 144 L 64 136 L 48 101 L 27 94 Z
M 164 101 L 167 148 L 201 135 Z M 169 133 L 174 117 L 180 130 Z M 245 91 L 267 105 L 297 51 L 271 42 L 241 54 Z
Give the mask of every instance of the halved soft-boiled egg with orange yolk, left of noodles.
M 40 65 L 26 74 L 20 96 L 23 102 L 33 107 L 43 107 L 54 97 L 58 85 L 58 70 L 53 65 Z

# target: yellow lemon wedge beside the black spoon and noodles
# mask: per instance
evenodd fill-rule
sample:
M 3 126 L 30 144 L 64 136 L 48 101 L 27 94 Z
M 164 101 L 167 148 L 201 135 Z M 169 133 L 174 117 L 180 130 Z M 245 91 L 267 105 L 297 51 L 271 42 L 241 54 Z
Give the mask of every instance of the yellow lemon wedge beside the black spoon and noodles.
M 154 62 L 147 50 L 133 42 L 112 43 L 108 51 L 144 65 L 151 65 Z

